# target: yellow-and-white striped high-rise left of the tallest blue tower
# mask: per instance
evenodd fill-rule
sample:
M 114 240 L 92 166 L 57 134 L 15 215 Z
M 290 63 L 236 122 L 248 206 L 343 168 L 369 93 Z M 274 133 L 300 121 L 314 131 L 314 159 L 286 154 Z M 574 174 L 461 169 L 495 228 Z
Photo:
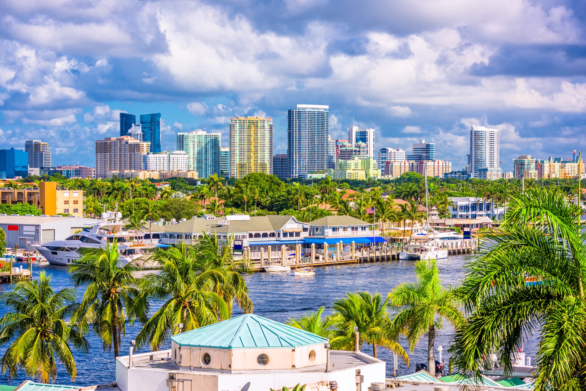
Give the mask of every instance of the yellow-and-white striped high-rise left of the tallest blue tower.
M 230 176 L 243 178 L 251 172 L 272 174 L 271 117 L 232 117 L 230 120 Z

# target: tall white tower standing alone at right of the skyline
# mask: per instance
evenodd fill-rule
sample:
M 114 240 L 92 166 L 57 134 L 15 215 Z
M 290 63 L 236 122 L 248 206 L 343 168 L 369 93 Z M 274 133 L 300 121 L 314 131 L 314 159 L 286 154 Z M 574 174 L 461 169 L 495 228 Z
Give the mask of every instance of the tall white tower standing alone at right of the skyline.
M 466 168 L 472 178 L 478 178 L 481 168 L 500 168 L 499 136 L 497 129 L 477 125 L 470 128 L 470 156 Z

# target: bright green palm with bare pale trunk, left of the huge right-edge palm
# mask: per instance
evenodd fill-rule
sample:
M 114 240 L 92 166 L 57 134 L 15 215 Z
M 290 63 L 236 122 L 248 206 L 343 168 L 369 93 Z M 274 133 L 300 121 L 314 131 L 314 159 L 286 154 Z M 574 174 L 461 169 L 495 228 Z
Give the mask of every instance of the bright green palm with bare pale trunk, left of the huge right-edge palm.
M 404 332 L 411 352 L 419 338 L 427 334 L 427 370 L 435 375 L 437 330 L 444 327 L 444 318 L 457 329 L 464 317 L 458 309 L 454 290 L 442 287 L 435 259 L 417 261 L 415 275 L 417 283 L 398 285 L 389 293 L 388 300 L 390 305 L 401 311 L 393 323 Z

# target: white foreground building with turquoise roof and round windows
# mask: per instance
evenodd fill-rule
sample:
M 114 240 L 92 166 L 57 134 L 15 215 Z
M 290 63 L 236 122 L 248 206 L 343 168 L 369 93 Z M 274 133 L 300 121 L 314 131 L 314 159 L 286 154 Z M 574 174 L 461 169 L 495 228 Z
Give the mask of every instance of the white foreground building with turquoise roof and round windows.
M 121 391 L 308 390 L 384 387 L 386 363 L 360 351 L 331 351 L 328 339 L 254 314 L 171 336 L 171 349 L 118 356 Z M 350 387 L 351 386 L 351 387 Z M 333 387 L 332 387 L 333 389 Z

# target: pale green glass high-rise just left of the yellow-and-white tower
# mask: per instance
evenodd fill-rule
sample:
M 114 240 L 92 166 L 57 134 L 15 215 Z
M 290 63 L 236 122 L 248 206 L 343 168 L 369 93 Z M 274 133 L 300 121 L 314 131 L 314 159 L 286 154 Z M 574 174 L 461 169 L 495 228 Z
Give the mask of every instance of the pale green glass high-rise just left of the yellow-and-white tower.
M 177 134 L 177 150 L 185 151 L 189 169 L 197 171 L 199 178 L 222 175 L 222 133 L 208 133 L 201 129 Z

